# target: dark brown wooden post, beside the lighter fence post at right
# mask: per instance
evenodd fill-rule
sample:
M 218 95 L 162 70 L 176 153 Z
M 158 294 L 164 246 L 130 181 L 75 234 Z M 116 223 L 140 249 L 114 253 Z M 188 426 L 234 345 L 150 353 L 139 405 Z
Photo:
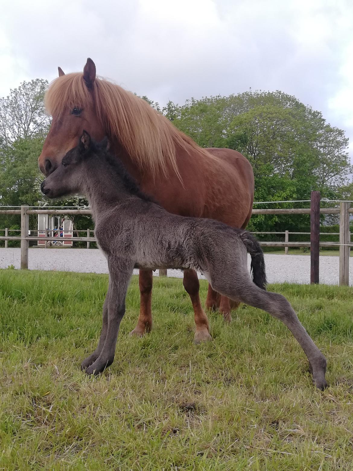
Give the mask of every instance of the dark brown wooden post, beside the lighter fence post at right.
M 310 283 L 319 283 L 320 191 L 310 198 Z

